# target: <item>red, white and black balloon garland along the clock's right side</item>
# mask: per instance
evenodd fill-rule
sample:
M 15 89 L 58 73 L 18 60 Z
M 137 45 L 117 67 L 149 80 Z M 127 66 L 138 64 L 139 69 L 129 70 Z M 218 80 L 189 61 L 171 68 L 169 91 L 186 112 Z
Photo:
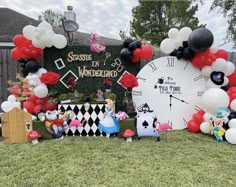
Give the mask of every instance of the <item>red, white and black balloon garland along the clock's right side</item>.
M 162 52 L 189 60 L 207 79 L 202 95 L 204 111 L 193 114 L 187 123 L 190 132 L 212 134 L 217 141 L 236 144 L 236 68 L 228 53 L 218 49 L 206 28 L 172 28 L 160 44 Z

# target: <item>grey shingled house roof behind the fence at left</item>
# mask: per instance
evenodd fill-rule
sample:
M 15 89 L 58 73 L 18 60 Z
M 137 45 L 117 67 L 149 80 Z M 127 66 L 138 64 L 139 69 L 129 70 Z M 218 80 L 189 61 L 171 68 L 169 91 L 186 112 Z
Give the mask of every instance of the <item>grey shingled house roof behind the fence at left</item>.
M 22 34 L 22 30 L 26 25 L 38 26 L 38 24 L 40 23 L 35 19 L 27 17 L 9 8 L 0 8 L 0 18 L 0 42 L 12 42 L 15 35 Z M 54 27 L 53 29 L 55 33 L 67 36 L 67 33 L 64 32 L 63 28 Z M 105 45 L 122 44 L 121 40 L 115 40 L 106 37 L 101 37 L 101 41 Z M 80 45 L 89 45 L 90 34 L 74 32 L 73 42 Z

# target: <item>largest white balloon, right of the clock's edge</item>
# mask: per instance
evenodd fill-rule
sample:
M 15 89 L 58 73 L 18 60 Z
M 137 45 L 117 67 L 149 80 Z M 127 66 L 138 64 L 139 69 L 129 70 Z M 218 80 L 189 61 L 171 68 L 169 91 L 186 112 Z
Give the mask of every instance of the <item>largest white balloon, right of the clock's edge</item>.
M 201 102 L 207 112 L 216 114 L 218 108 L 228 107 L 229 96 L 220 88 L 210 88 L 202 95 Z

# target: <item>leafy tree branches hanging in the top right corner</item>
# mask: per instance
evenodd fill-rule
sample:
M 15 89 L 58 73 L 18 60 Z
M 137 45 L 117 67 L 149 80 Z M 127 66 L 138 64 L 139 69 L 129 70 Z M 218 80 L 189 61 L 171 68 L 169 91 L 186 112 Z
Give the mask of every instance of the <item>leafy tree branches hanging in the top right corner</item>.
M 226 36 L 226 42 L 232 41 L 234 42 L 234 46 L 236 47 L 236 2 L 235 0 L 214 0 L 211 4 L 210 11 L 219 8 L 221 13 L 223 13 L 224 17 L 227 18 L 228 21 L 228 31 Z M 219 25 L 220 27 L 220 25 Z

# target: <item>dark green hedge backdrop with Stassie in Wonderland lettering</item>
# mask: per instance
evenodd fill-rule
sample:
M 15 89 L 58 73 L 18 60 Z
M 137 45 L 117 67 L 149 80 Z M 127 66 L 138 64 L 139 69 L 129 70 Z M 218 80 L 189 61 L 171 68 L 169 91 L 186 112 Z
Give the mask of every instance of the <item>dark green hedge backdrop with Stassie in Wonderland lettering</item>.
M 52 89 L 68 93 L 67 80 L 74 77 L 79 93 L 105 91 L 103 81 L 110 77 L 112 92 L 117 95 L 116 109 L 122 109 L 125 89 L 117 81 L 125 71 L 137 75 L 140 63 L 124 62 L 120 59 L 122 46 L 106 46 L 106 52 L 95 53 L 90 46 L 67 46 L 64 49 L 48 48 L 44 52 L 44 67 L 60 74 L 61 78 Z

